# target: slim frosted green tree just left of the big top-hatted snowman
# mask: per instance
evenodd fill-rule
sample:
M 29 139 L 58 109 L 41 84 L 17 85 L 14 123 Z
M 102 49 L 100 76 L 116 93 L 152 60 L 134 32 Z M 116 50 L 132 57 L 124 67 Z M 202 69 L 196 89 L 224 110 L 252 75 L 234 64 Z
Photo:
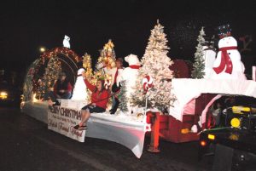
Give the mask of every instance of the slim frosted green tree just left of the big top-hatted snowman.
M 203 45 L 206 43 L 204 36 L 206 36 L 204 27 L 201 27 L 199 36 L 197 37 L 198 45 L 195 51 L 195 63 L 193 64 L 192 78 L 203 78 L 205 75 L 205 60 L 203 53 Z

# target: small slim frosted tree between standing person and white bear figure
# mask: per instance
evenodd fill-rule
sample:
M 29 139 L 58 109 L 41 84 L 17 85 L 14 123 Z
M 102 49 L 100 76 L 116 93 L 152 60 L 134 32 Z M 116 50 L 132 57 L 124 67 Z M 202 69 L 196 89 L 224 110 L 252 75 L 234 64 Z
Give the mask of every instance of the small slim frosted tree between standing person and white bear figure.
M 120 83 L 122 85 L 122 87 L 120 88 L 120 93 L 118 94 L 118 99 L 119 99 L 119 109 L 120 111 L 128 111 L 128 107 L 127 107 L 127 103 L 128 103 L 128 99 L 126 97 L 126 83 L 125 81 L 122 81 Z

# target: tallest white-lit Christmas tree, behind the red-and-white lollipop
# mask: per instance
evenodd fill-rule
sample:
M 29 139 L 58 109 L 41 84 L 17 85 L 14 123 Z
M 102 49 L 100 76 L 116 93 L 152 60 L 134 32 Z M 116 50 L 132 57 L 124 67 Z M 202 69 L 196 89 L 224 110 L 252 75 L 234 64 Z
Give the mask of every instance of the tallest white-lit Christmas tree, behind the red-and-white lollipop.
M 170 105 L 171 100 L 171 82 L 172 71 L 169 66 L 172 60 L 167 56 L 168 47 L 166 43 L 166 34 L 164 26 L 161 26 L 159 20 L 154 29 L 151 30 L 148 46 L 142 59 L 142 67 L 137 77 L 136 92 L 132 96 L 132 105 L 145 105 L 146 95 L 143 94 L 143 77 L 149 75 L 153 78 L 154 87 L 148 90 L 148 107 L 157 108 L 165 111 Z

